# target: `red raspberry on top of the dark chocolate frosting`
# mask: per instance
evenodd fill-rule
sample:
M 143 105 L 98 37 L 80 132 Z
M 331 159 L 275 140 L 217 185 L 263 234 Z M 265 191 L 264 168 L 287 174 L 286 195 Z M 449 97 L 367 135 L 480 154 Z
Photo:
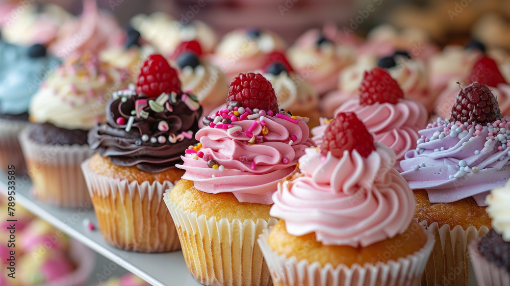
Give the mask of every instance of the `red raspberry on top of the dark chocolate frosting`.
M 177 72 L 170 67 L 163 56 L 150 55 L 143 62 L 136 82 L 136 92 L 148 97 L 156 97 L 161 93 L 176 92 L 181 94 L 181 82 Z

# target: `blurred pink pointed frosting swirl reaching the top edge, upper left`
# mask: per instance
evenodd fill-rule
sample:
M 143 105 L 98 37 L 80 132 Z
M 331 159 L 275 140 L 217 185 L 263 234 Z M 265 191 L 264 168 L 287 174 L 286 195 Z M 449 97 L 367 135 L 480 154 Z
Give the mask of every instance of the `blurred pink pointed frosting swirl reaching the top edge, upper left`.
M 112 15 L 98 11 L 95 0 L 84 0 L 80 18 L 59 30 L 49 51 L 60 59 L 86 50 L 98 54 L 107 47 L 121 46 L 124 37 L 124 31 Z

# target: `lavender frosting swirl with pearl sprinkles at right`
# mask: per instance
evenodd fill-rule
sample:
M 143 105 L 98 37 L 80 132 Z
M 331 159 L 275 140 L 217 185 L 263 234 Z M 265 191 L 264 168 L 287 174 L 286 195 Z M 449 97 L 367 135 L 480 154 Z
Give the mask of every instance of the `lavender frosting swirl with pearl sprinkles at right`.
M 411 189 L 425 189 L 430 202 L 473 197 L 484 206 L 489 191 L 510 177 L 509 121 L 505 116 L 484 126 L 438 119 L 418 132 L 416 150 L 400 162 L 401 175 Z

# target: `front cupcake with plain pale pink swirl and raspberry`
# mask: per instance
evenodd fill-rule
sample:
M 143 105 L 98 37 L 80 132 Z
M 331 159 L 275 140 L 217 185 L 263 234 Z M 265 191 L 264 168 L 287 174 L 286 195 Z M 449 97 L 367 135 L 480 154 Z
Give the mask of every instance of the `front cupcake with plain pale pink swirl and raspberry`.
M 258 243 L 275 285 L 419 284 L 434 238 L 394 163 L 354 113 L 337 114 L 273 195 L 280 220 Z

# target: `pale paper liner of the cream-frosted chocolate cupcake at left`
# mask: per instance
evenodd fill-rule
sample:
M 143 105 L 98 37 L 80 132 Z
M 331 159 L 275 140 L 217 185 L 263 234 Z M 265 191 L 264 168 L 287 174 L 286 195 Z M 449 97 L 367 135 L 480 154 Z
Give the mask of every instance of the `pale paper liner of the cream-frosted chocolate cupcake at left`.
M 90 197 L 80 164 L 94 154 L 89 145 L 41 145 L 23 129 L 19 141 L 27 170 L 32 178 L 32 193 L 39 200 L 61 207 L 90 207 Z

